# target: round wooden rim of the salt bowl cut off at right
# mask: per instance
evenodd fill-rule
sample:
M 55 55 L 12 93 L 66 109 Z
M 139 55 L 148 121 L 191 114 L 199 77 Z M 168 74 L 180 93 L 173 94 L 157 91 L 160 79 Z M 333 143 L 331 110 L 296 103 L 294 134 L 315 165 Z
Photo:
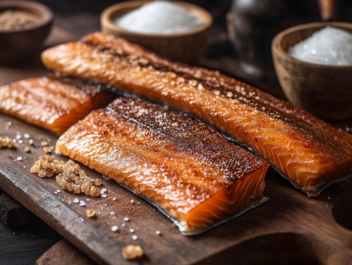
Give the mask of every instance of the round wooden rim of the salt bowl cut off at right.
M 309 63 L 309 62 L 305 62 L 305 61 L 301 61 L 298 60 L 294 57 L 292 57 L 291 55 L 289 55 L 289 53 L 287 51 L 285 51 L 282 48 L 281 42 L 282 39 L 292 33 L 292 32 L 296 32 L 296 31 L 300 31 L 303 29 L 309 29 L 309 28 L 314 28 L 314 27 L 326 27 L 326 26 L 333 26 L 333 27 L 349 27 L 352 29 L 352 23 L 348 23 L 348 22 L 313 22 L 313 23 L 306 23 L 306 24 L 300 24 L 300 25 L 296 25 L 293 27 L 289 27 L 288 29 L 285 29 L 281 32 L 279 32 L 278 34 L 276 34 L 276 36 L 272 39 L 271 42 L 271 50 L 272 50 L 272 56 L 274 56 L 274 50 L 279 52 L 281 54 L 281 56 L 285 57 L 285 59 L 288 59 L 290 61 L 295 61 L 301 64 L 306 64 L 307 66 L 310 67 L 314 67 L 314 68 L 331 68 L 331 69 L 342 69 L 342 68 L 351 68 L 352 64 L 350 65 L 328 65 L 328 64 L 316 64 L 316 63 Z

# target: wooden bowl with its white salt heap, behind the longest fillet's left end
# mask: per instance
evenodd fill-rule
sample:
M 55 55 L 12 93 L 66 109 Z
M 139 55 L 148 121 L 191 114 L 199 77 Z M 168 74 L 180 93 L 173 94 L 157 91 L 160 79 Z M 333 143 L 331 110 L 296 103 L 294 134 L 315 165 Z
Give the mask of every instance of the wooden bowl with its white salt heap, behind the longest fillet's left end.
M 105 33 L 122 37 L 176 61 L 190 63 L 207 46 L 212 15 L 182 1 L 127 1 L 106 8 Z

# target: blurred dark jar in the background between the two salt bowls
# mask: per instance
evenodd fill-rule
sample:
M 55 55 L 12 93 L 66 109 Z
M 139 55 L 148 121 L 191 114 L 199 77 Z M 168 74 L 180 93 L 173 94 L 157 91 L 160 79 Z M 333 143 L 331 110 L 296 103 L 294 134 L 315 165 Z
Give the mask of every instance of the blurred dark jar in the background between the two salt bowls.
M 271 40 L 288 27 L 319 21 L 316 0 L 233 0 L 227 27 L 241 69 L 259 79 L 275 78 Z

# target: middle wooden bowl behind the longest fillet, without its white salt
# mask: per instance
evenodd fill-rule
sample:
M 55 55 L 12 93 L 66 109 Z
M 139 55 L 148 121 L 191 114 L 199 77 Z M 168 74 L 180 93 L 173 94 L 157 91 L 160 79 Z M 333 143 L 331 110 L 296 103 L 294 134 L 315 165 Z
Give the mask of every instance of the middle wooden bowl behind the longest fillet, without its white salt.
M 204 22 L 201 26 L 185 33 L 143 34 L 126 31 L 114 23 L 116 18 L 147 2 L 150 1 L 127 1 L 106 8 L 100 17 L 101 30 L 180 62 L 195 62 L 204 54 L 213 18 L 208 11 L 199 6 L 182 1 L 174 1 L 175 4 L 187 8 Z

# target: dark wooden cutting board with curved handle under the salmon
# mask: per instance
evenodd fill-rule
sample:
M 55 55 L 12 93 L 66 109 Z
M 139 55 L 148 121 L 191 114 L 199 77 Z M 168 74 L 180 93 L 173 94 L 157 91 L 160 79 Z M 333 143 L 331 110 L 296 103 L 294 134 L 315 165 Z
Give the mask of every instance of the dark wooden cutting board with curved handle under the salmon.
M 0 67 L 0 84 L 44 71 L 40 64 L 34 69 Z M 8 121 L 12 125 L 6 130 L 3 125 Z M 14 138 L 17 131 L 24 142 L 0 150 L 0 188 L 99 264 L 352 264 L 351 180 L 331 185 L 318 198 L 308 198 L 270 168 L 265 178 L 268 202 L 201 235 L 186 237 L 149 203 L 86 166 L 81 165 L 88 176 L 102 179 L 106 198 L 57 192 L 60 187 L 54 177 L 40 178 L 30 172 L 44 154 L 40 142 L 50 139 L 49 145 L 55 146 L 57 136 L 0 115 L 0 135 Z M 34 140 L 30 153 L 23 151 L 28 145 L 24 133 Z M 18 156 L 23 159 L 18 161 Z M 86 205 L 73 203 L 75 198 Z M 95 209 L 96 217 L 86 217 L 88 208 Z M 118 232 L 111 231 L 113 225 Z M 134 234 L 136 241 L 131 238 Z M 127 244 L 142 246 L 144 258 L 124 260 L 121 248 Z

